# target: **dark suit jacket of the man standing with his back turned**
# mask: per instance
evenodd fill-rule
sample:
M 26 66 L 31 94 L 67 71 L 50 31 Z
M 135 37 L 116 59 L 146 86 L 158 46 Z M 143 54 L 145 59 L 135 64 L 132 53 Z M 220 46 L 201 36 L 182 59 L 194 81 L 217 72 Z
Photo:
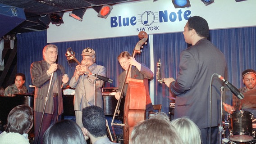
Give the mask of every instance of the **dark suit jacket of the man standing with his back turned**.
M 195 45 L 183 50 L 180 56 L 179 73 L 170 84 L 170 91 L 176 96 L 174 118 L 187 116 L 202 128 L 218 126 L 220 108 L 220 88 L 223 82 L 214 73 L 225 76 L 224 54 L 209 40 L 199 40 Z

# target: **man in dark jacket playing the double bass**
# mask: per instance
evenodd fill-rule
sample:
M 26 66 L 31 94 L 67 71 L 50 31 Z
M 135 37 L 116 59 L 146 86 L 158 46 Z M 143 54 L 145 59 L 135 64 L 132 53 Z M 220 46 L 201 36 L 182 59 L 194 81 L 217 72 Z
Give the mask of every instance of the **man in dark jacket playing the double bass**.
M 144 80 L 145 83 L 145 88 L 146 88 L 146 113 L 149 111 L 153 111 L 153 105 L 151 103 L 151 99 L 149 97 L 149 90 L 148 90 L 148 80 L 152 79 L 154 74 L 153 72 L 146 67 L 144 64 L 138 63 L 135 58 L 129 54 L 128 51 L 123 51 L 119 56 L 117 57 L 121 67 L 124 69 L 124 71 L 119 75 L 118 81 L 119 81 L 119 86 L 117 93 L 115 94 L 116 99 L 120 99 L 120 93 L 122 90 L 122 85 L 125 82 L 125 77 L 128 72 L 129 65 L 132 66 L 131 68 L 131 78 L 137 79 L 137 80 Z M 124 86 L 123 90 L 123 96 L 126 95 L 127 91 L 127 85 Z M 146 114 L 148 116 L 148 114 Z

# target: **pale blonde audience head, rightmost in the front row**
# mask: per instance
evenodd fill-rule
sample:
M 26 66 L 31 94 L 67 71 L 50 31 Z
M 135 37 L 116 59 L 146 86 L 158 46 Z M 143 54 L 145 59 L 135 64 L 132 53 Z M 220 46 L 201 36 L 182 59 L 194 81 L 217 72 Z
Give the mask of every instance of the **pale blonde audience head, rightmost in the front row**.
M 183 144 L 201 144 L 201 131 L 197 125 L 187 117 L 181 117 L 171 121 L 176 128 Z

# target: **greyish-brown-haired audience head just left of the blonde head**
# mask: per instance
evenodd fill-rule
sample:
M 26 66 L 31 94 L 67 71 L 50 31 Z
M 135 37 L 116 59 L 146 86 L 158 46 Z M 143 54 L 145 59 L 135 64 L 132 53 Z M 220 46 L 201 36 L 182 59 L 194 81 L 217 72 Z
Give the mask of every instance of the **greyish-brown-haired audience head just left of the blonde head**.
M 168 116 L 156 114 L 139 122 L 131 133 L 132 144 L 183 144 Z

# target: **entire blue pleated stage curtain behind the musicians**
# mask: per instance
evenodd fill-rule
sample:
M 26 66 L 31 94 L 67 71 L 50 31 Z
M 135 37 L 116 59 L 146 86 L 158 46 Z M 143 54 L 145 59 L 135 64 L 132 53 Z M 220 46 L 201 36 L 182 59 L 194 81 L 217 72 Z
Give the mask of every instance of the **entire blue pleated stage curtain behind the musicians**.
M 248 68 L 256 69 L 256 27 L 232 28 L 223 30 L 211 30 L 209 40 L 216 45 L 225 55 L 228 77 L 230 83 L 240 88 L 242 84 L 242 71 Z M 31 85 L 30 65 L 34 61 L 42 60 L 42 49 L 46 43 L 46 31 L 23 33 L 18 38 L 18 72 L 26 75 L 26 86 Z M 77 65 L 73 60 L 67 61 L 65 56 L 67 48 L 71 47 L 76 53 L 75 57 L 79 62 L 82 60 L 82 49 L 91 47 L 96 51 L 96 63 L 103 65 L 107 69 L 107 77 L 113 79 L 113 84 L 105 83 L 104 87 L 117 87 L 118 75 L 123 72 L 117 61 L 117 56 L 122 51 L 133 52 L 133 49 L 140 39 L 138 36 L 127 36 L 108 39 L 81 40 L 71 42 L 55 43 L 59 47 L 58 63 L 65 67 L 69 78 L 73 76 L 74 67 Z M 148 41 L 149 43 L 149 41 Z M 182 50 L 188 45 L 185 43 L 182 32 L 153 35 L 151 44 L 144 45 L 141 54 L 136 54 L 138 62 L 150 67 L 150 49 L 153 47 L 153 65 L 161 58 L 162 78 L 174 77 L 178 73 L 179 56 Z M 156 68 L 154 73 L 156 73 Z M 156 76 L 152 80 L 155 82 L 154 102 L 162 104 L 162 111 L 169 112 L 169 102 L 173 101 L 172 95 L 166 85 L 160 84 Z M 33 88 L 29 89 L 32 92 Z M 151 95 L 152 96 L 152 95 Z M 226 96 L 227 103 L 231 103 L 230 94 Z

